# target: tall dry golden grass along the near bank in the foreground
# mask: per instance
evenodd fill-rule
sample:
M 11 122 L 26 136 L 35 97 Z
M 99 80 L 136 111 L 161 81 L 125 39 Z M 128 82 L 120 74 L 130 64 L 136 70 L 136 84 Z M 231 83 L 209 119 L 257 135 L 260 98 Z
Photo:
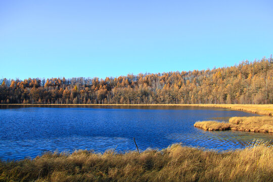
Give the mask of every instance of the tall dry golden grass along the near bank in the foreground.
M 178 144 L 117 154 L 77 151 L 0 162 L 0 181 L 272 181 L 273 147 L 207 151 Z

